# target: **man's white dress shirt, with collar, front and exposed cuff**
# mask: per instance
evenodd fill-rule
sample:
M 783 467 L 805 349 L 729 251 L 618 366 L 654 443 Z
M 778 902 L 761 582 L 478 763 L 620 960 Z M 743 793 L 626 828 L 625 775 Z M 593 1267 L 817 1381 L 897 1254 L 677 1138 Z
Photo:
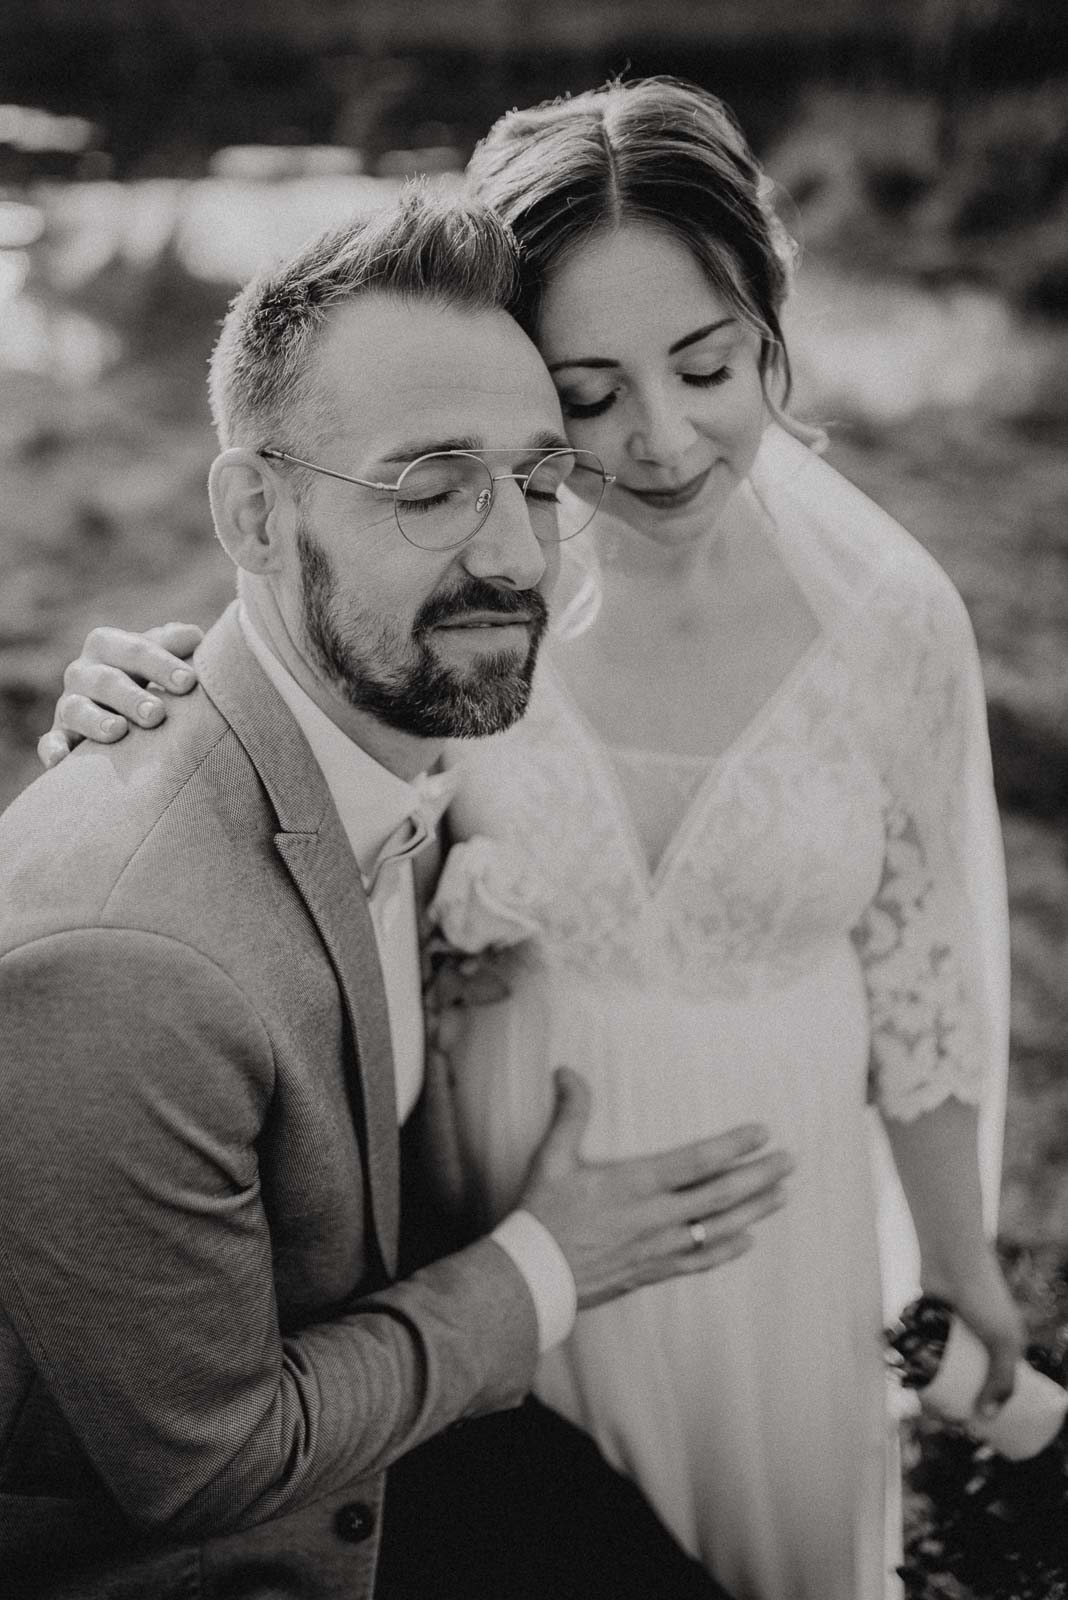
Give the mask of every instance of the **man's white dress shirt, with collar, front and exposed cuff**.
M 414 782 L 404 782 L 390 773 L 320 710 L 256 632 L 245 606 L 240 606 L 238 618 L 248 648 L 312 747 L 368 891 L 390 1019 L 397 1117 L 403 1123 L 419 1099 L 424 1077 L 412 858 L 433 838 L 449 779 L 424 773 Z M 574 1277 L 560 1245 L 529 1211 L 513 1211 L 491 1237 L 526 1278 L 537 1312 L 540 1349 L 552 1349 L 568 1338 L 577 1310 Z

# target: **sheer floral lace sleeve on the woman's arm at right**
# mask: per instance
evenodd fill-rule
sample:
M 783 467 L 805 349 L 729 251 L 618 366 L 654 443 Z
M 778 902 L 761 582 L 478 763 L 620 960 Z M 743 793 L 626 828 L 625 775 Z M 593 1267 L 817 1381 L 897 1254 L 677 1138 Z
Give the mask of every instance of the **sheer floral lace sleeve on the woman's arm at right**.
M 899 574 L 900 578 L 900 574 Z M 996 1205 L 1007 1075 L 1007 898 L 986 706 L 970 621 L 924 558 L 887 602 L 883 710 L 887 848 L 855 930 L 871 1003 L 875 1098 L 911 1120 L 950 1096 L 980 1102 L 980 1165 Z

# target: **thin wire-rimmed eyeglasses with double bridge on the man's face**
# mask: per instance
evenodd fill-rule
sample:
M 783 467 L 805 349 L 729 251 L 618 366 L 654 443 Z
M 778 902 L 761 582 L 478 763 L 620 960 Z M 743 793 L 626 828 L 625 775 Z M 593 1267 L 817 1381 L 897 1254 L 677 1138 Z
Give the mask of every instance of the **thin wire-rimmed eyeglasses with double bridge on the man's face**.
M 358 483 L 393 496 L 393 515 L 404 539 L 420 550 L 452 550 L 473 539 L 492 510 L 497 483 L 523 488 L 531 528 L 542 544 L 574 539 L 590 525 L 616 478 L 590 450 L 552 450 L 529 472 L 492 472 L 483 456 L 515 456 L 513 450 L 435 450 L 411 461 L 397 483 L 376 483 L 304 461 L 288 450 L 261 450 L 270 461 L 291 461 L 342 483 Z

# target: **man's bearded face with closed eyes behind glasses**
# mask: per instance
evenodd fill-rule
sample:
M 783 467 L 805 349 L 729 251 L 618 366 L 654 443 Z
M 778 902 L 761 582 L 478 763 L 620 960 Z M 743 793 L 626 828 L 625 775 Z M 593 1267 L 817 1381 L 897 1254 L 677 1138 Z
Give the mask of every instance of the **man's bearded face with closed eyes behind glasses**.
M 326 432 L 285 448 L 336 472 L 395 483 L 428 451 L 499 446 L 492 472 L 524 472 L 566 443 L 552 379 L 504 312 L 369 294 L 331 314 L 312 360 Z M 278 602 L 317 677 L 392 728 L 476 738 L 526 709 L 558 549 L 516 483 L 494 490 L 473 539 L 424 550 L 392 494 L 312 475 Z

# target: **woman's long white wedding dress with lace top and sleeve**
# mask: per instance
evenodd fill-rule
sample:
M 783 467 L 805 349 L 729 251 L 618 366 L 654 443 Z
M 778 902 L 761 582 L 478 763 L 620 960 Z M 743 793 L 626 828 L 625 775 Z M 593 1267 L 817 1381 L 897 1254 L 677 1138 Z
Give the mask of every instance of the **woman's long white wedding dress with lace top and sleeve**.
M 868 1099 L 911 1118 L 986 1091 L 996 1192 L 1004 883 L 982 685 L 956 592 L 865 496 L 779 430 L 753 490 L 822 632 L 729 750 L 660 776 L 681 814 L 656 869 L 632 810 L 656 773 L 606 750 L 545 659 L 526 718 L 457 749 L 462 842 L 435 915 L 465 949 L 515 946 L 510 998 L 470 1010 L 456 1062 L 491 1214 L 521 1187 L 560 1062 L 590 1080 L 592 1157 L 763 1120 L 798 1163 L 747 1256 L 584 1312 L 539 1394 L 737 1600 L 883 1600 L 879 1206 L 903 1235 Z

